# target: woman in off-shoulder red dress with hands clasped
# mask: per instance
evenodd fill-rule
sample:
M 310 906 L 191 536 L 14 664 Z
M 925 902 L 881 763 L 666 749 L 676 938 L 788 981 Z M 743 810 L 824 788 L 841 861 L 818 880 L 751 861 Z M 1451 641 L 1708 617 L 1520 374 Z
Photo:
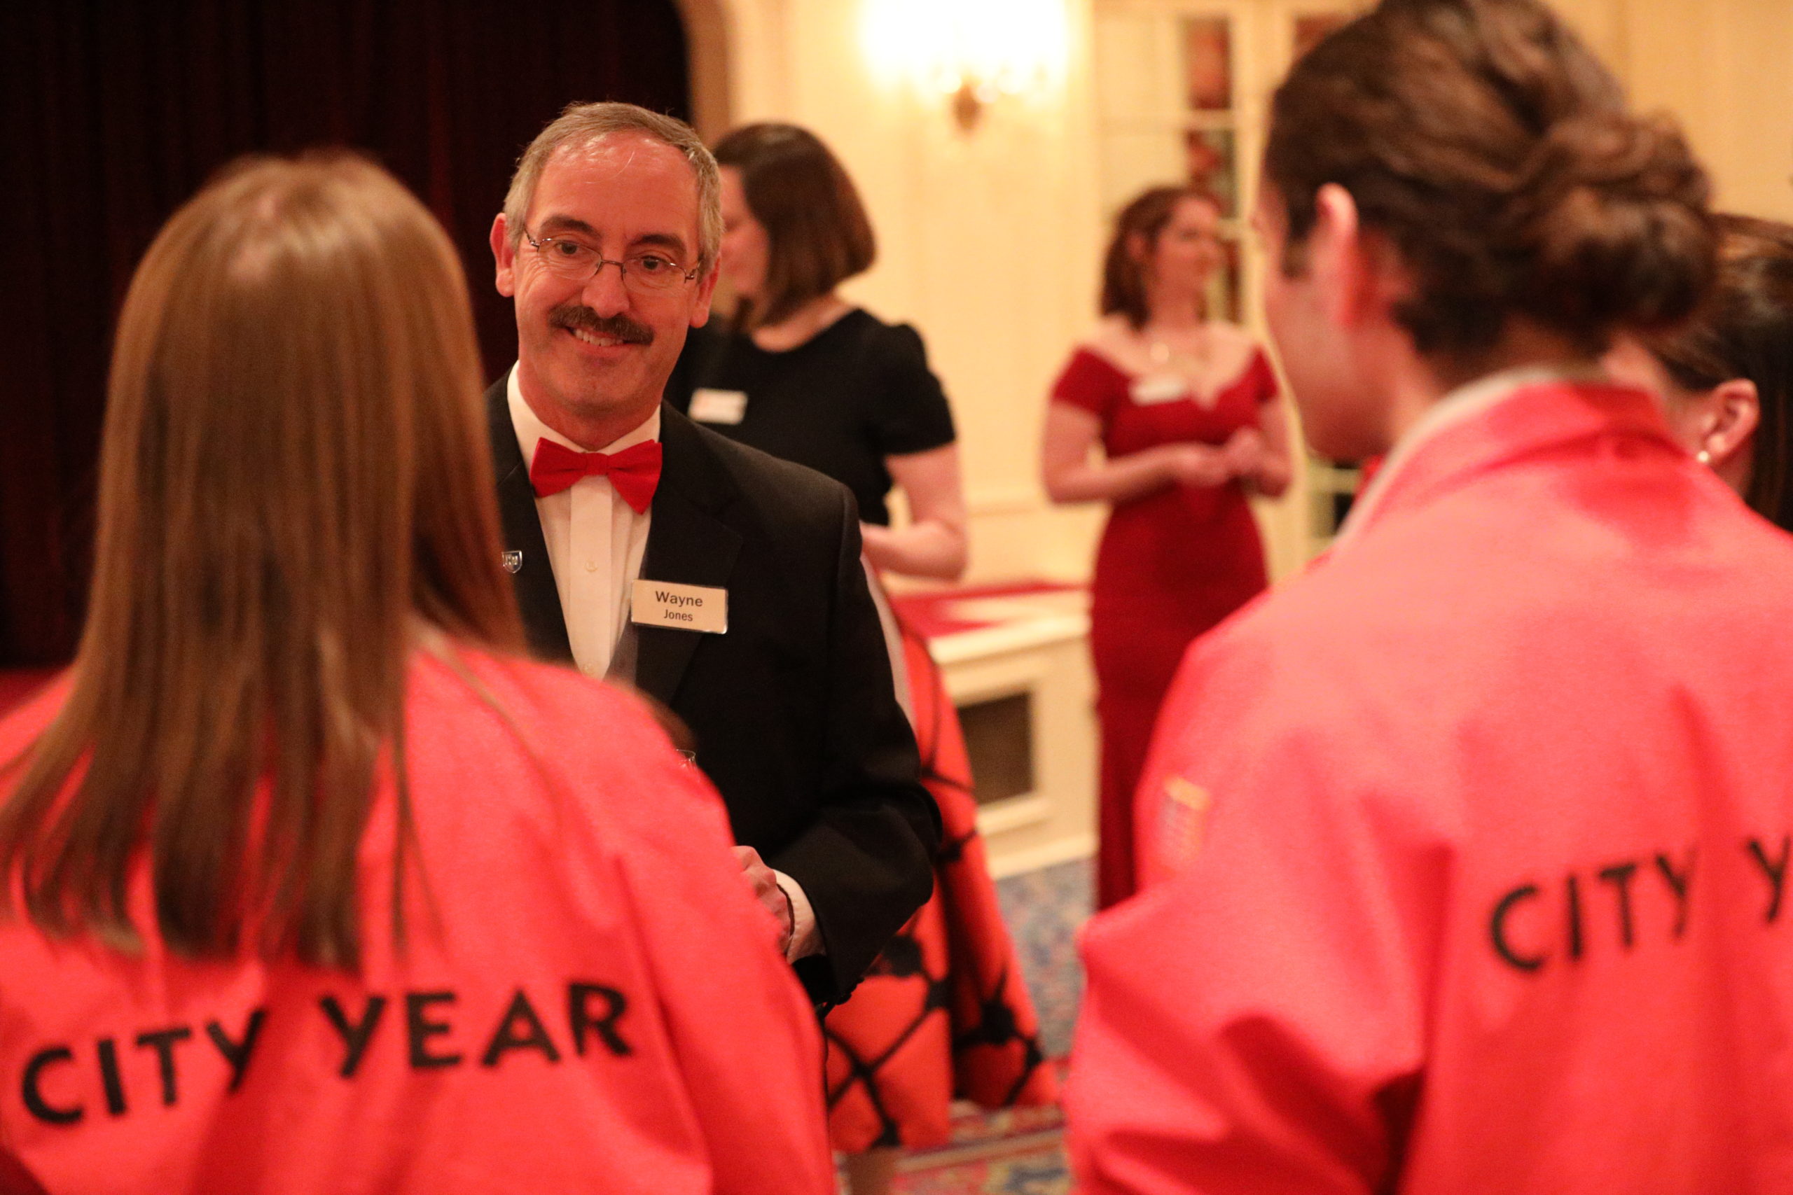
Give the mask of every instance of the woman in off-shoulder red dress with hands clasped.
M 1110 502 L 1096 555 L 1090 650 L 1103 729 L 1096 903 L 1133 894 L 1133 788 L 1191 640 L 1264 589 L 1246 493 L 1289 484 L 1277 378 L 1252 337 L 1205 319 L 1219 210 L 1158 186 L 1122 208 L 1103 324 L 1052 387 L 1045 491 Z M 1104 459 L 1090 460 L 1101 441 Z

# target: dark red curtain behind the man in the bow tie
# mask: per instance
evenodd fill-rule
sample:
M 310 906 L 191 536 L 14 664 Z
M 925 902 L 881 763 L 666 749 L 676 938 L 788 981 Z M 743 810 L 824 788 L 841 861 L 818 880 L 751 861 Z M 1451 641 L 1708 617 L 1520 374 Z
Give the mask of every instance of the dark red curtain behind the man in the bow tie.
M 0 666 L 81 629 L 113 317 L 161 222 L 244 152 L 353 145 L 459 245 L 486 369 L 516 353 L 486 233 L 574 100 L 687 116 L 672 0 L 0 4 Z

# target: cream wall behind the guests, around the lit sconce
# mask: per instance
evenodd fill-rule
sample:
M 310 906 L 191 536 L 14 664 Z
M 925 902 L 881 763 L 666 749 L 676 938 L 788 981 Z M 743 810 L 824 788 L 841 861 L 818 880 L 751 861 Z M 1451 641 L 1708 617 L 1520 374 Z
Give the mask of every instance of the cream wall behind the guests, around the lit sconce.
M 965 134 L 943 97 L 873 77 L 864 20 L 877 0 L 683 0 L 708 56 L 694 63 L 708 79 L 705 124 L 717 113 L 805 124 L 859 181 L 880 260 L 850 294 L 922 330 L 954 400 L 974 580 L 1083 577 L 1101 521 L 1099 509 L 1047 507 L 1036 480 L 1045 389 L 1092 321 L 1104 220 L 1090 50 L 1099 2 L 1035 0 L 1069 21 L 1063 81 L 1000 100 Z M 1641 107 L 1684 122 L 1719 204 L 1793 220 L 1793 0 L 1558 7 Z M 1266 520 L 1278 572 L 1300 555 L 1304 512 L 1295 494 Z

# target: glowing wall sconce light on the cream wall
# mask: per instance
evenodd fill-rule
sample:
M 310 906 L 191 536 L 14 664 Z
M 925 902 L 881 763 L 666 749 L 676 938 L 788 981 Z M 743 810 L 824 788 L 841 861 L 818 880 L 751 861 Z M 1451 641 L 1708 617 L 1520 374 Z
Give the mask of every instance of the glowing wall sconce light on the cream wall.
M 1004 97 L 1063 81 L 1069 27 L 1065 0 L 868 0 L 864 48 L 879 77 L 947 97 L 972 133 Z

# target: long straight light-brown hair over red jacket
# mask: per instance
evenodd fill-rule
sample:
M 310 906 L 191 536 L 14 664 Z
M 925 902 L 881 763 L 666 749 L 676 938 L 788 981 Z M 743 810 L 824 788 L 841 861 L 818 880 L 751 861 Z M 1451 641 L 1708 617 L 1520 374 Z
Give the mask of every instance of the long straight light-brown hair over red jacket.
M 147 851 L 170 950 L 359 966 L 420 629 L 522 641 L 479 389 L 454 249 L 369 161 L 240 163 L 176 211 L 118 319 L 88 622 L 9 769 L 5 907 L 140 948 Z

